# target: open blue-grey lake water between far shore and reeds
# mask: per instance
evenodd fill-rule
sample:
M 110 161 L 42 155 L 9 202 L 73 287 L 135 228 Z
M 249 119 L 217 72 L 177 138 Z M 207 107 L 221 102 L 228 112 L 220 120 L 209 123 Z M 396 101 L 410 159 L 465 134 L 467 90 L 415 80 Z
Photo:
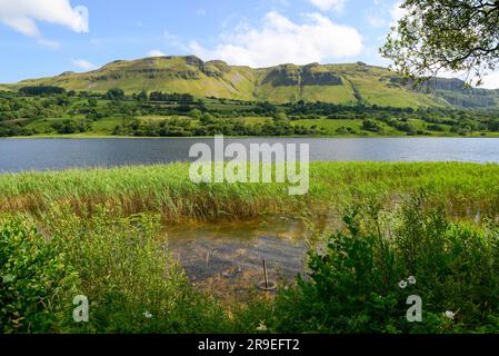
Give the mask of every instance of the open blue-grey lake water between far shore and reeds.
M 0 172 L 188 161 L 193 144 L 212 139 L 1 139 Z M 498 162 L 496 138 L 277 138 L 227 144 L 310 144 L 312 161 Z

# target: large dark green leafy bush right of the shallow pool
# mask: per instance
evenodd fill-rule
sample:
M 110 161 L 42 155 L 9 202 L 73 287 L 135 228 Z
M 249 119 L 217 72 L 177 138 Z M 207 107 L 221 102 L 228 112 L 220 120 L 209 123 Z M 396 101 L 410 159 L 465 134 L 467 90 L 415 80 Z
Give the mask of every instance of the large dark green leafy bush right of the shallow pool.
M 452 224 L 425 195 L 396 216 L 359 211 L 347 231 L 309 254 L 309 278 L 280 294 L 273 330 L 285 333 L 497 333 L 499 230 Z M 363 221 L 361 224 L 360 221 Z M 399 281 L 415 276 L 407 289 Z M 408 323 L 410 295 L 421 296 L 422 323 Z M 445 313 L 456 313 L 449 319 Z

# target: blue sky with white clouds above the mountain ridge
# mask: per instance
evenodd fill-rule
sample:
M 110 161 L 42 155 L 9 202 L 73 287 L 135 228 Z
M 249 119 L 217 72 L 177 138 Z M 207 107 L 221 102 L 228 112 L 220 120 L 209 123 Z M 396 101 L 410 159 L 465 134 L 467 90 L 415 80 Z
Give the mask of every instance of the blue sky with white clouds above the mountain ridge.
M 0 82 L 163 53 L 387 66 L 378 48 L 399 13 L 396 0 L 0 0 Z

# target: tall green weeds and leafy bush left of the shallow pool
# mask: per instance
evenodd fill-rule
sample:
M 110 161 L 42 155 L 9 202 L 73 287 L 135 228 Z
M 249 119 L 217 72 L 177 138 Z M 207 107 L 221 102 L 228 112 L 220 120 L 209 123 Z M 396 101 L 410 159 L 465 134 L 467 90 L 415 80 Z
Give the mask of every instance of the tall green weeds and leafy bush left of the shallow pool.
M 228 332 L 227 310 L 191 288 L 160 228 L 154 215 L 106 207 L 0 218 L 0 334 Z M 81 295 L 90 318 L 78 324 Z

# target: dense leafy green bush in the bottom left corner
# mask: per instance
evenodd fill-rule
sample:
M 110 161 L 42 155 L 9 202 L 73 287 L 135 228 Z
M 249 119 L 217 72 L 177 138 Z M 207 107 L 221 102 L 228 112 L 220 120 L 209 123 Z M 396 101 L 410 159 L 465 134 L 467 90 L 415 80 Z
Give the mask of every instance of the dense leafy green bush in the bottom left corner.
M 7 221 L 0 227 L 0 334 L 60 330 L 77 277 L 57 240 Z

